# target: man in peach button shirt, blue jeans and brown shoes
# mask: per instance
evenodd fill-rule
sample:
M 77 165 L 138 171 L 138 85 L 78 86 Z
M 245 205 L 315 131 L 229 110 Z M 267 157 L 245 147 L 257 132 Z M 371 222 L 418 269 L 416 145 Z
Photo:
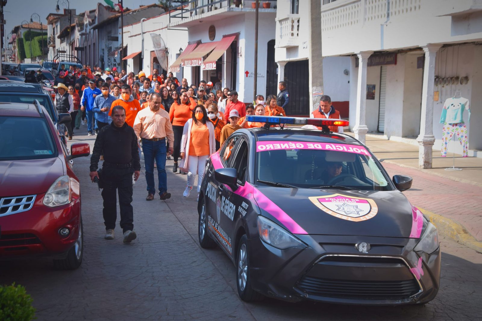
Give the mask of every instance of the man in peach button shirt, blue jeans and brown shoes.
M 167 192 L 166 174 L 166 138 L 169 142 L 169 154 L 174 153 L 174 132 L 169 113 L 161 108 L 161 95 L 151 94 L 149 106 L 139 111 L 134 121 L 134 132 L 142 139 L 142 150 L 146 165 L 147 198 L 152 201 L 156 193 L 154 185 L 154 160 L 157 165 L 159 179 L 159 196 L 161 200 L 171 198 Z

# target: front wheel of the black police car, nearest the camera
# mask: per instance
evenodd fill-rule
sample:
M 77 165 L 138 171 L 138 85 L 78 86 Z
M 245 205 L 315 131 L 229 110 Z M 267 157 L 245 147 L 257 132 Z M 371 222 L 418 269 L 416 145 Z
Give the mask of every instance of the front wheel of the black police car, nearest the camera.
M 246 234 L 241 236 L 236 254 L 236 286 L 241 300 L 246 302 L 260 301 L 264 298 L 251 287 L 249 272 L 249 251 Z

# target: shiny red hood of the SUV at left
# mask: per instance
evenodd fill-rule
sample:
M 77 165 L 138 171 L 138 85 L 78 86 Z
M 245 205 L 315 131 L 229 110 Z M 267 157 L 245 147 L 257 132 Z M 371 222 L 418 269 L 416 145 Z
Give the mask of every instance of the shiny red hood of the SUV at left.
M 64 164 L 58 157 L 0 161 L 0 197 L 45 193 L 64 174 Z

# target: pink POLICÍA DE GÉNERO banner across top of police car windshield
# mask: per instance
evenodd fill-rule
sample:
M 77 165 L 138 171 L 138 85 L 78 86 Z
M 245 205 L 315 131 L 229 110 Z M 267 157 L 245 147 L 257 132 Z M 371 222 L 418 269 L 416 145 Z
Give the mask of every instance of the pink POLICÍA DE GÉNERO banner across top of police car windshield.
M 280 150 L 280 149 L 321 149 L 321 150 L 336 150 L 347 153 L 362 154 L 370 156 L 370 153 L 365 147 L 360 145 L 348 144 L 330 144 L 320 142 L 299 142 L 299 141 L 258 141 L 256 142 L 256 151 L 265 150 Z

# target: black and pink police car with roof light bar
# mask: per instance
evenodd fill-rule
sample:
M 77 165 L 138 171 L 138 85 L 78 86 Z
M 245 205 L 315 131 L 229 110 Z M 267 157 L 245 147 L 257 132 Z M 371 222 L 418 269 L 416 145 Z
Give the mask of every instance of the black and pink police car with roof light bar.
M 403 195 L 411 177 L 390 179 L 360 141 L 328 129 L 346 120 L 246 119 L 265 125 L 234 132 L 210 156 L 198 202 L 201 247 L 217 244 L 235 264 L 242 300 L 435 298 L 437 228 Z

